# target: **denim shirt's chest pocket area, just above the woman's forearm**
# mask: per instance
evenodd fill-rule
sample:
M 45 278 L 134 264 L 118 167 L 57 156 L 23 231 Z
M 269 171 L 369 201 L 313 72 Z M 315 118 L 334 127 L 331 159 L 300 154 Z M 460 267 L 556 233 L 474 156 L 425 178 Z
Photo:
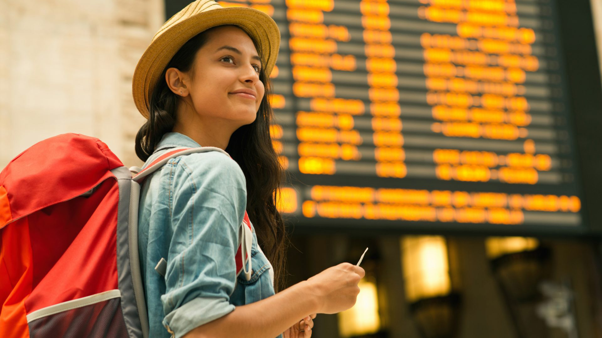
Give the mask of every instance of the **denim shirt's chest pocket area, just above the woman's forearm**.
M 237 276 L 237 283 L 244 288 L 244 304 L 255 303 L 275 294 L 268 271 L 270 262 L 267 257 L 253 247 L 251 249 L 251 262 L 253 265 L 251 278 L 246 280 L 243 273 Z

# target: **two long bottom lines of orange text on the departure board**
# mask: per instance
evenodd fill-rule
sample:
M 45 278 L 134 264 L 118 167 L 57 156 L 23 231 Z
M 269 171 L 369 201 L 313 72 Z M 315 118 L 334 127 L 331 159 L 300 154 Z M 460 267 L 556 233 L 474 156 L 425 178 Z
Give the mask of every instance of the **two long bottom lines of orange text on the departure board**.
M 396 163 L 393 163 L 393 165 Z M 501 192 L 427 191 L 358 186 L 311 188 L 312 209 L 320 217 L 368 220 L 523 224 L 523 210 L 579 212 L 576 196 Z

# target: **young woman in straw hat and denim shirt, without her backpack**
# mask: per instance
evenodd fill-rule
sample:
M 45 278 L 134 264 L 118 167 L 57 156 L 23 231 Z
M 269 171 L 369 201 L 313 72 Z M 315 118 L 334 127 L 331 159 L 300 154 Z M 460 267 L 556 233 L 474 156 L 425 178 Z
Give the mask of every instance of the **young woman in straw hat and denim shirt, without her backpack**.
M 134 75 L 134 99 L 148 118 L 136 137 L 138 157 L 146 167 L 179 147 L 227 155 L 178 156 L 141 187 L 138 245 L 150 336 L 311 337 L 317 313 L 355 304 L 364 270 L 342 263 L 276 293 L 287 246 L 273 197 L 282 170 L 267 100 L 278 27 L 250 8 L 197 0 L 158 33 L 166 34 L 172 38 L 155 35 Z M 252 269 L 237 274 L 243 221 L 255 224 Z M 164 275 L 155 271 L 162 259 Z

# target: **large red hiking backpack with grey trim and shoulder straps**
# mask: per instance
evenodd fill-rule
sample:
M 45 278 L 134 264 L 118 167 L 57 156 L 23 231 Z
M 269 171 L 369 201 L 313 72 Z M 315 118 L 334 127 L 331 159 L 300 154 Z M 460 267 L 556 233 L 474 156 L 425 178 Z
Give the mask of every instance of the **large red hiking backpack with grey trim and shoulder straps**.
M 209 151 L 226 153 L 168 150 L 137 173 L 98 138 L 62 134 L 14 158 L 0 173 L 0 337 L 148 337 L 140 184 L 171 158 Z M 245 212 L 235 257 L 247 279 L 251 236 Z

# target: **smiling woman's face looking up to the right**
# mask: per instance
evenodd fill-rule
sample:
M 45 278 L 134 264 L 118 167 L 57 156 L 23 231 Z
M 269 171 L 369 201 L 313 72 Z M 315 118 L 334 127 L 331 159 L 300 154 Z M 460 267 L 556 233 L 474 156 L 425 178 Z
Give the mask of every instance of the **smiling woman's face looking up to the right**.
M 200 118 L 216 128 L 228 124 L 235 130 L 255 121 L 265 91 L 259 81 L 261 60 L 249 35 L 237 26 L 217 27 L 207 34 L 196 53 L 188 94 Z

